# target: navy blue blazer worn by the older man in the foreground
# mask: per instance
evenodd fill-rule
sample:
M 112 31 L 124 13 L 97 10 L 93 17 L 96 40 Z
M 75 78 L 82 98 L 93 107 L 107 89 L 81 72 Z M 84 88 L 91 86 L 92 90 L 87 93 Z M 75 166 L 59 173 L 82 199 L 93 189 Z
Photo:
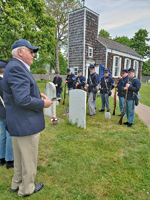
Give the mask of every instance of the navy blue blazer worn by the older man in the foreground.
M 11 136 L 28 136 L 45 128 L 44 101 L 36 81 L 16 58 L 7 64 L 3 76 L 6 124 Z

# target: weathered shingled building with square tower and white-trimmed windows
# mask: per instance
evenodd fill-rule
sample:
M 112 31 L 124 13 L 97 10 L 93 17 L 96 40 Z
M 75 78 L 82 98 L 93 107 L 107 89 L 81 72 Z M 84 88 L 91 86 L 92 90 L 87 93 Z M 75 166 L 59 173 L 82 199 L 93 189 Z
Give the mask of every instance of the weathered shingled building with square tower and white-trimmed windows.
M 68 22 L 68 66 L 77 75 L 83 70 L 87 78 L 90 64 L 102 64 L 112 71 L 114 78 L 121 70 L 133 67 L 141 80 L 143 58 L 129 46 L 98 36 L 99 14 L 87 7 L 69 13 Z

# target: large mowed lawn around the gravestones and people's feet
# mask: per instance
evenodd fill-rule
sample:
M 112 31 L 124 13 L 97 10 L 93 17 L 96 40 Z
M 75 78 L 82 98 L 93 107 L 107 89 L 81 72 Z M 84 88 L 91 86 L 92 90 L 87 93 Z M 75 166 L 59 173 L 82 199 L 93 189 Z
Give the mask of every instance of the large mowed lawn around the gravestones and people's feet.
M 39 83 L 44 92 L 45 84 Z M 57 106 L 58 124 L 45 118 L 41 132 L 35 182 L 42 191 L 31 200 L 137 200 L 150 199 L 150 132 L 135 115 L 131 128 L 119 125 L 116 115 L 105 119 L 100 96 L 97 114 L 87 117 L 87 129 L 69 123 L 68 108 Z M 110 98 L 111 113 L 113 98 Z M 88 106 L 87 106 L 88 114 Z M 123 119 L 126 121 L 126 118 Z M 13 169 L 0 167 L 0 199 L 24 199 L 9 192 Z

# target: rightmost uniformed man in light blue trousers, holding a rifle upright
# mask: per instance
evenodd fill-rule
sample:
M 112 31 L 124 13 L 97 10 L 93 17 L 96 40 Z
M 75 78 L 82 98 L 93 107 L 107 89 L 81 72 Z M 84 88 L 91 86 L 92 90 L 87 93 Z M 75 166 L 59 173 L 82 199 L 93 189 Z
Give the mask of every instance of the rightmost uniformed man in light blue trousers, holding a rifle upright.
M 124 90 L 128 90 L 125 113 L 127 115 L 127 122 L 124 125 L 131 127 L 134 123 L 135 101 L 134 95 L 138 93 L 141 87 L 141 82 L 135 76 L 135 69 L 128 69 L 129 83 L 126 84 Z

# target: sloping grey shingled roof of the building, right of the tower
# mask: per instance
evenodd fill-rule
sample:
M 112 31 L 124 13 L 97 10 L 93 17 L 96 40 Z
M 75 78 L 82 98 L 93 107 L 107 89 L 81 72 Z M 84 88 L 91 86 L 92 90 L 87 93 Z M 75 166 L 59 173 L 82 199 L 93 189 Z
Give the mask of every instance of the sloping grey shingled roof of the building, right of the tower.
M 123 53 L 127 53 L 133 56 L 137 56 L 139 58 L 143 58 L 140 54 L 138 54 L 136 51 L 131 49 L 129 46 L 122 44 L 120 42 L 116 42 L 114 40 L 111 40 L 109 38 L 98 36 L 98 40 L 103 43 L 107 48 L 112 50 L 117 50 Z

